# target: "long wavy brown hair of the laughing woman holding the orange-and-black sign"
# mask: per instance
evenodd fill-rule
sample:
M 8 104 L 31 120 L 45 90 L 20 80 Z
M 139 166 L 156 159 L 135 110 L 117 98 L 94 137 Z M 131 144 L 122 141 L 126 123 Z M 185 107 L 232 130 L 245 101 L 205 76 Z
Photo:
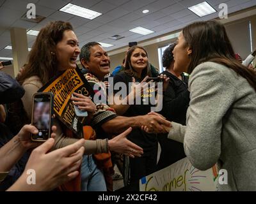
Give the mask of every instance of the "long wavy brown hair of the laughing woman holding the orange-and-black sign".
M 37 76 L 42 84 L 56 75 L 58 60 L 56 57 L 56 45 L 63 38 L 64 31 L 73 30 L 68 22 L 50 22 L 40 30 L 36 41 L 29 53 L 28 64 L 17 80 L 23 84 L 26 78 Z

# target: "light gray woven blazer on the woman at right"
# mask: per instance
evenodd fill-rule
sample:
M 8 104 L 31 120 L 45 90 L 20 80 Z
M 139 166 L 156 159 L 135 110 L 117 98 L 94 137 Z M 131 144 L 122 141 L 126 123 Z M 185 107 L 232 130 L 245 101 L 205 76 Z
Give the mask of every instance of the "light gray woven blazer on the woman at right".
M 168 137 L 184 142 L 199 170 L 218 162 L 228 184 L 220 191 L 256 191 L 256 92 L 245 78 L 214 62 L 204 62 L 189 78 L 187 126 L 172 122 Z

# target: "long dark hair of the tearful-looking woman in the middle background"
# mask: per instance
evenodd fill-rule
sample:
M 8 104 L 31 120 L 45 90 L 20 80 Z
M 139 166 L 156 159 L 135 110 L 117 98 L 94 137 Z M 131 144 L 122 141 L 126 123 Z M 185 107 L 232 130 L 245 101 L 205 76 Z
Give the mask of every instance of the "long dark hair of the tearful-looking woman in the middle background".
M 132 68 L 132 63 L 131 63 L 131 57 L 132 57 L 132 53 L 134 52 L 134 50 L 136 48 L 140 48 L 141 50 L 144 50 L 147 57 L 148 57 L 148 54 L 147 54 L 147 51 L 143 48 L 143 47 L 140 47 L 138 45 L 134 45 L 132 46 L 128 52 L 127 52 L 127 56 L 126 56 L 126 61 L 125 61 L 125 68 L 124 68 L 124 71 L 126 73 L 128 73 L 130 76 L 132 77 L 136 77 L 136 78 L 140 78 L 138 77 L 138 73 L 135 71 L 134 68 Z M 151 71 L 150 71 L 150 65 L 149 65 L 149 62 L 147 64 L 147 67 L 145 69 L 143 69 L 142 73 L 141 73 L 141 78 L 145 78 L 146 76 L 148 77 L 151 77 L 152 74 L 151 74 Z

